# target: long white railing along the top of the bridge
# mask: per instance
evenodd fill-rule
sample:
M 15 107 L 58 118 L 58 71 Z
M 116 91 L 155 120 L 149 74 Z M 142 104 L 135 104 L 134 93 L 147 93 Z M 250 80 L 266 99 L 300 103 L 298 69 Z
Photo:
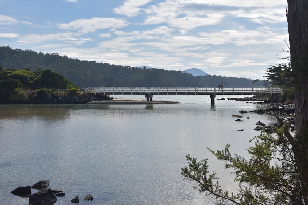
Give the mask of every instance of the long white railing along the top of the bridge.
M 181 94 L 200 94 L 200 93 L 220 93 L 235 94 L 242 93 L 283 93 L 280 87 L 88 87 L 87 93 L 181 93 Z

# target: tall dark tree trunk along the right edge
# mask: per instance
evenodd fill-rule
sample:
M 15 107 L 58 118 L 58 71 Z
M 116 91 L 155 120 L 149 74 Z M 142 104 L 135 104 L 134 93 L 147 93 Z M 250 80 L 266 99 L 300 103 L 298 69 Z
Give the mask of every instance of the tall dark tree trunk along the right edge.
M 294 83 L 296 138 L 292 145 L 302 182 L 305 204 L 308 204 L 308 2 L 287 1 L 291 67 Z

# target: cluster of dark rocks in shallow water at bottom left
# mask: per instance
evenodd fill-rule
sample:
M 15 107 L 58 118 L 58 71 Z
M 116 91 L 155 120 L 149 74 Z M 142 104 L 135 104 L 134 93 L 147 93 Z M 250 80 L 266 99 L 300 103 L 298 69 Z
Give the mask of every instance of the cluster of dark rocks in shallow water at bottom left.
M 47 189 L 49 186 L 49 180 L 41 180 L 32 186 L 19 186 L 13 191 L 12 194 L 19 197 L 29 197 L 29 204 L 44 205 L 44 204 L 54 204 L 57 202 L 57 197 L 65 196 L 65 193 L 61 189 Z M 32 189 L 39 190 L 32 194 Z M 88 194 L 84 201 L 93 201 L 93 196 Z M 71 200 L 72 203 L 79 203 L 78 195 Z

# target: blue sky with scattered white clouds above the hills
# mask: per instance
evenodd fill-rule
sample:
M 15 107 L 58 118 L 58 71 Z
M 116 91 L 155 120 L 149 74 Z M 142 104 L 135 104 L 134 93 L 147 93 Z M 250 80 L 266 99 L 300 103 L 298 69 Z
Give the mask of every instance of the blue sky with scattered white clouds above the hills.
M 264 79 L 286 0 L 0 0 L 0 45 L 123 66 Z

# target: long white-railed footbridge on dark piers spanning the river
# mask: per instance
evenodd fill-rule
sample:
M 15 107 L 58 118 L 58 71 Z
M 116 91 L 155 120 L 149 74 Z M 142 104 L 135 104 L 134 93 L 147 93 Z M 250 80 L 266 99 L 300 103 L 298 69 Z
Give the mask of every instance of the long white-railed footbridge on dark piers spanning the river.
M 88 87 L 86 93 L 95 95 L 145 95 L 147 101 L 153 95 L 270 95 L 282 94 L 280 87 Z

